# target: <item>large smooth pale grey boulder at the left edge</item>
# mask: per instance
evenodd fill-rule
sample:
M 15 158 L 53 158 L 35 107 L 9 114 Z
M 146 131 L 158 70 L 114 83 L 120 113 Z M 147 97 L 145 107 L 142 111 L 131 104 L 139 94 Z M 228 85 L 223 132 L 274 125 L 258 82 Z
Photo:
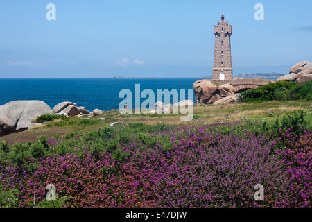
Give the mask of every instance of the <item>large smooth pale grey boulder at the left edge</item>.
M 0 106 L 1 134 L 27 130 L 42 114 L 53 114 L 43 101 L 12 101 Z

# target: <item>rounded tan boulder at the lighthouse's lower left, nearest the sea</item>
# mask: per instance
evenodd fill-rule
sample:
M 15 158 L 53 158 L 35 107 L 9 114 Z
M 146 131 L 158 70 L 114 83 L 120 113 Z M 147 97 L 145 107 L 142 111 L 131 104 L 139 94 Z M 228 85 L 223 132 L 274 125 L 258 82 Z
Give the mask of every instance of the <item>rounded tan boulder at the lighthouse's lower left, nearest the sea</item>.
M 195 92 L 195 101 L 199 103 L 208 103 L 212 96 L 216 94 L 218 87 L 209 80 L 199 80 L 193 84 Z

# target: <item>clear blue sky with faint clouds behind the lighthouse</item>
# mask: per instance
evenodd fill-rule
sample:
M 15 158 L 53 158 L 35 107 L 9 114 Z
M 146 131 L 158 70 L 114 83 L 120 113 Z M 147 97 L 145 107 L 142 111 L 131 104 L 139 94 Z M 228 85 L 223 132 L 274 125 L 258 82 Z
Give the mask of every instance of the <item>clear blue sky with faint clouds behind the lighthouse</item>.
M 56 21 L 46 5 L 56 6 Z M 264 21 L 254 5 L 264 6 Z M 213 26 L 232 24 L 240 73 L 312 62 L 311 0 L 28 0 L 0 2 L 0 78 L 211 76 Z

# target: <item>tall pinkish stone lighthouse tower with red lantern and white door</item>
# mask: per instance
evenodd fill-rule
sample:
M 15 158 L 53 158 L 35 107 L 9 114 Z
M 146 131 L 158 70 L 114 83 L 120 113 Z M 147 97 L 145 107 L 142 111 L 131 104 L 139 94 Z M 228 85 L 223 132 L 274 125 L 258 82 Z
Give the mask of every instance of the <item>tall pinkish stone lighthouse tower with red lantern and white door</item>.
M 214 26 L 214 35 L 216 43 L 214 46 L 214 69 L 212 69 L 213 80 L 231 80 L 232 76 L 232 58 L 231 42 L 232 26 L 224 21 L 224 15 L 218 26 Z

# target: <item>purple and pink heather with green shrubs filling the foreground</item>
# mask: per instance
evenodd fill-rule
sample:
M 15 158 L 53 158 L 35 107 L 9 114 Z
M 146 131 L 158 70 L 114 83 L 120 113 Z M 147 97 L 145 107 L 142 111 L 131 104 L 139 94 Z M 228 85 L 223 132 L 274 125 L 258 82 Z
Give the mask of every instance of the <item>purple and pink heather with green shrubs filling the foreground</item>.
M 123 123 L 1 142 L 0 205 L 311 207 L 307 114 L 204 126 Z M 254 200 L 256 184 L 265 188 L 263 201 Z

